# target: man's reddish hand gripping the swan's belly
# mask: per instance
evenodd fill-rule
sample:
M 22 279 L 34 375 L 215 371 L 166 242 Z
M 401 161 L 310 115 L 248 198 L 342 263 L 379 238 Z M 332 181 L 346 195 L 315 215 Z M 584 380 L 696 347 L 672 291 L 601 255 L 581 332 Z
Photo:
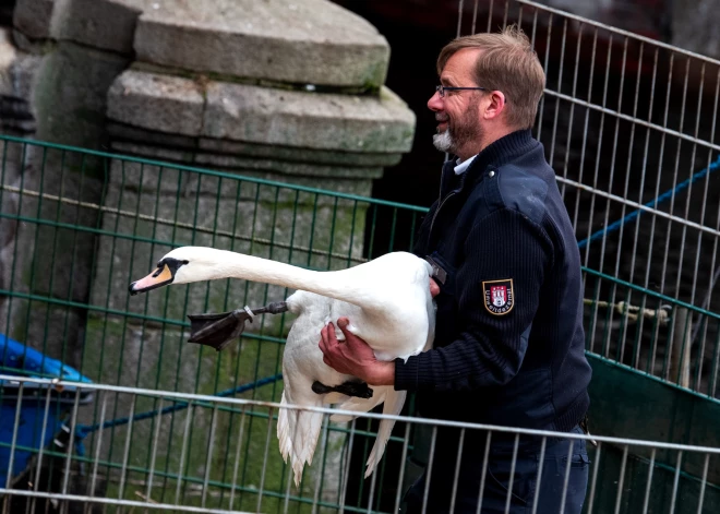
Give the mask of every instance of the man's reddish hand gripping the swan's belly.
M 393 385 L 395 363 L 375 359 L 368 343 L 347 330 L 349 323 L 347 318 L 337 320 L 337 326 L 345 334 L 345 342 L 337 340 L 333 323 L 320 332 L 323 361 L 336 371 L 357 376 L 369 385 Z

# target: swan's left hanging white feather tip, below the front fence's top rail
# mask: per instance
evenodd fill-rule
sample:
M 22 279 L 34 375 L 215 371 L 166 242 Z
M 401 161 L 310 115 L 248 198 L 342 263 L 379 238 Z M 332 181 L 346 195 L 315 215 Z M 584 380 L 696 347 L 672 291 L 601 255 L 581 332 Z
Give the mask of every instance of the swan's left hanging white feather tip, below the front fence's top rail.
M 290 404 L 285 391 L 280 404 Z M 322 407 L 322 402 L 319 399 L 314 405 L 303 405 L 303 407 Z M 304 465 L 312 464 L 322 423 L 322 413 L 280 407 L 277 417 L 277 439 L 283 459 L 287 463 L 288 457 L 290 458 L 296 487 L 300 487 Z

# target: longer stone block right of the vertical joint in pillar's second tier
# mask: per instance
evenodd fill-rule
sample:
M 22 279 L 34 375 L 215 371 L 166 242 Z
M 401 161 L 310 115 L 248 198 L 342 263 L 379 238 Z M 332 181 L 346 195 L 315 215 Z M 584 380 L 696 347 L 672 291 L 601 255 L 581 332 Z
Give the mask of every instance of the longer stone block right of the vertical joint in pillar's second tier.
M 334 151 L 404 153 L 415 115 L 394 93 L 380 98 L 212 82 L 203 135 Z

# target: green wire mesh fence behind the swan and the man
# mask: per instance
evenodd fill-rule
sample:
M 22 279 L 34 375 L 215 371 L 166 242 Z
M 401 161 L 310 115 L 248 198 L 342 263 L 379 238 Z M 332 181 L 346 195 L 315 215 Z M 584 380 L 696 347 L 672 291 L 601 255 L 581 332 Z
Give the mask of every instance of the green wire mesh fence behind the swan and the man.
M 132 391 L 280 398 L 289 316 L 266 316 L 238 344 L 215 352 L 187 343 L 185 315 L 261 306 L 288 291 L 216 280 L 131 298 L 128 284 L 171 248 L 211 246 L 315 270 L 343 268 L 408 249 L 425 212 L 7 136 L 0 138 L 0 333 L 93 382 Z M 589 352 L 697 396 L 717 396 L 720 315 L 591 270 L 585 279 Z M 0 374 L 16 369 L 5 362 Z M 7 389 L 0 394 L 8 396 Z M 335 512 L 341 495 L 345 511 L 389 512 L 407 485 L 396 478 L 408 451 L 407 425 L 396 428 L 370 481 L 361 476 L 374 439 L 372 420 L 351 428 L 326 423 L 323 452 L 295 490 L 274 438 L 276 409 L 192 405 L 104 391 L 76 408 L 70 423 L 75 444 L 70 438 L 48 450 L 44 465 L 58 457 L 63 464 L 50 467 L 50 477 L 74 477 L 83 494 L 148 507 L 152 501 L 194 505 L 199 512 L 254 511 L 261 503 L 263 512 Z M 38 402 L 38 419 L 44 408 Z M 69 447 L 74 458 L 65 469 Z

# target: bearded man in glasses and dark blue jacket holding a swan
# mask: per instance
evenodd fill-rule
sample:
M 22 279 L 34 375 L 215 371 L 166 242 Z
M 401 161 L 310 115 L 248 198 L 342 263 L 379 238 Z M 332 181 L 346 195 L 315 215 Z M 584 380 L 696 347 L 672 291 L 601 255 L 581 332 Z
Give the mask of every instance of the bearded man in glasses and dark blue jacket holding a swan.
M 379 362 L 340 319 L 345 343 L 332 324 L 323 330 L 325 362 L 371 385 L 416 392 L 424 417 L 580 433 L 591 370 L 579 251 L 530 133 L 544 72 L 517 27 L 455 39 L 437 71 L 441 85 L 428 101 L 439 122 L 434 144 L 456 158 L 443 167 L 440 199 L 413 249 L 437 270 L 435 347 L 407 362 Z M 584 441 L 548 439 L 542 451 L 540 439 L 524 438 L 513 465 L 514 438 L 494 432 L 483 479 L 485 434 L 464 435 L 456 477 L 458 439 L 457 430 L 437 431 L 425 512 L 448 512 L 453 501 L 455 512 L 476 512 L 482 482 L 483 513 L 505 512 L 509 497 L 513 513 L 537 502 L 538 513 L 564 503 L 566 514 L 579 514 Z M 408 512 L 422 509 L 427 474 L 406 494 Z

